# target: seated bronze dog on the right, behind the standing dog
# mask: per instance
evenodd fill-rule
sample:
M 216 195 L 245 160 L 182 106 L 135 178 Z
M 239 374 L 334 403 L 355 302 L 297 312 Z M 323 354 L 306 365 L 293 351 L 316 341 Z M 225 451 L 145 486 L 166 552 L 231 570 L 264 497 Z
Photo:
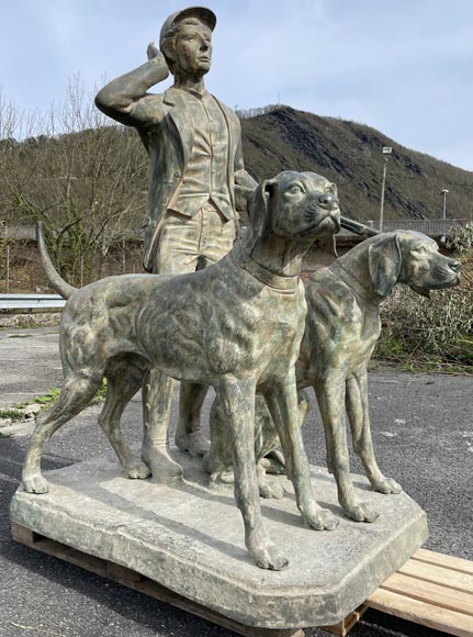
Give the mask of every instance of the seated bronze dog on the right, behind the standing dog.
M 378 514 L 359 501 L 351 482 L 346 412 L 354 451 L 373 489 L 382 493 L 402 490 L 380 471 L 371 438 L 367 368 L 381 333 L 380 306 L 397 283 L 428 295 L 430 290 L 458 284 L 459 271 L 460 262 L 439 254 L 433 239 L 417 232 L 396 231 L 362 242 L 330 267 L 312 275 L 306 283 L 307 315 L 296 362 L 300 420 L 307 407 L 301 390 L 312 385 L 325 427 L 327 466 L 335 476 L 341 507 L 356 521 L 372 522 Z M 263 457 L 277 449 L 279 439 L 260 399 L 256 411 L 256 456 L 264 461 Z M 211 412 L 212 448 L 204 465 L 214 482 L 225 482 L 232 479 L 226 476 L 232 458 L 225 437 L 215 431 L 222 431 L 218 403 Z M 282 495 L 281 488 L 264 479 L 261 463 L 258 477 L 261 495 Z

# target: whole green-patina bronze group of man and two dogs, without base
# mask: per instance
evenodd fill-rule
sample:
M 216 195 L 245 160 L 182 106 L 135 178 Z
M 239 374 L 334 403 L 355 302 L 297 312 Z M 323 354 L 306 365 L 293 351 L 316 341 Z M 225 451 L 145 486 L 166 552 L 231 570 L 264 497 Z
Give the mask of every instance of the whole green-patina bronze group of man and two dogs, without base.
M 368 416 L 365 373 L 379 336 L 379 308 L 397 282 L 419 292 L 455 284 L 459 264 L 439 255 L 423 235 L 379 235 L 304 288 L 302 259 L 315 239 L 331 237 L 341 224 L 372 232 L 340 217 L 337 189 L 325 177 L 290 170 L 257 186 L 246 172 L 238 119 L 204 87 L 215 22 L 204 8 L 173 13 L 161 29 L 159 49 L 151 43 L 148 60 L 95 99 L 104 113 L 136 127 L 149 155 L 148 273 L 110 277 L 76 290 L 53 267 L 38 230 L 50 284 L 68 299 L 60 328 L 65 383 L 54 407 L 37 417 L 23 488 L 48 491 L 41 472 L 44 448 L 90 404 L 103 378 L 106 400 L 99 423 L 127 476 L 180 478 L 167 438 L 171 379 L 178 379 L 177 446 L 204 456 L 214 482 L 233 471 L 246 546 L 259 567 L 280 570 L 286 554 L 264 528 L 259 494 L 280 498 L 283 490 L 271 487 L 264 468 L 286 471 L 311 527 L 337 525 L 313 493 L 301 435 L 306 402 L 297 401 L 297 388 L 313 385 L 317 393 L 341 506 L 354 519 L 374 519 L 376 513 L 358 500 L 351 483 L 345 411 L 371 484 L 398 492 L 378 468 Z M 149 93 L 169 72 L 173 86 Z M 236 239 L 239 212 L 249 213 L 249 230 Z M 211 449 L 200 429 L 209 385 L 216 392 Z M 140 460 L 120 426 L 139 389 Z

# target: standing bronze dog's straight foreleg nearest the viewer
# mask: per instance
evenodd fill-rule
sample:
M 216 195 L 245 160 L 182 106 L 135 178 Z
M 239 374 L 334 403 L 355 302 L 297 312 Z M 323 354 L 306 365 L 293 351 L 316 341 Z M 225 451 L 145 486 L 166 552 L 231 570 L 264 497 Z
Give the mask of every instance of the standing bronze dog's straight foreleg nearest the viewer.
M 232 433 L 235 500 L 245 523 L 245 544 L 260 568 L 281 570 L 289 561 L 271 541 L 259 503 L 254 445 L 255 381 L 226 380 L 216 391 Z

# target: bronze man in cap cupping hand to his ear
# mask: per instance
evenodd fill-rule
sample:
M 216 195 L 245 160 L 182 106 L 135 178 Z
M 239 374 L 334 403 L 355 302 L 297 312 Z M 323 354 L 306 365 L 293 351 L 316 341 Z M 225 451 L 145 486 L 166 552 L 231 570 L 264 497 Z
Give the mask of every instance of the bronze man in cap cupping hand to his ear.
M 145 217 L 144 266 L 149 272 L 193 272 L 232 248 L 257 182 L 246 172 L 238 118 L 204 87 L 211 68 L 210 9 L 178 11 L 164 23 L 159 49 L 148 46 L 148 62 L 106 85 L 95 103 L 104 113 L 136 127 L 150 159 Z M 161 94 L 154 85 L 174 77 Z M 167 432 L 173 381 L 151 370 L 145 380 L 143 459 L 156 478 L 180 476 L 169 456 Z M 182 383 L 176 444 L 202 456 L 209 443 L 200 431 L 206 388 Z

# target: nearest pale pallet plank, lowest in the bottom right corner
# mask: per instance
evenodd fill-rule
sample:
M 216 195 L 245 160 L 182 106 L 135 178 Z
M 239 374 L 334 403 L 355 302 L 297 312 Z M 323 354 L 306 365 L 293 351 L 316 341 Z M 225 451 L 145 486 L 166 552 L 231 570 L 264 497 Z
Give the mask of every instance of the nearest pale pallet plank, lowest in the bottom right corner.
M 455 635 L 455 637 L 473 636 L 473 618 L 471 616 L 448 608 L 439 608 L 433 604 L 405 597 L 384 589 L 378 589 L 370 595 L 367 600 L 367 606 L 428 628 Z

